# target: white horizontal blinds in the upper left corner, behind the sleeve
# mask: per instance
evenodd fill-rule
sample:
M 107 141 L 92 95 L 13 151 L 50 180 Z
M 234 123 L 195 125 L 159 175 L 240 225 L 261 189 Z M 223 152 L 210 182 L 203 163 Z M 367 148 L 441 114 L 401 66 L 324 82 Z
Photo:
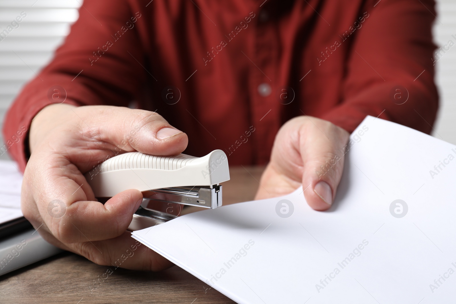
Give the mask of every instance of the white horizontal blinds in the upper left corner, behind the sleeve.
M 78 19 L 80 3 L 82 0 L 0 0 L 0 123 L 24 83 L 51 60 L 69 26 Z

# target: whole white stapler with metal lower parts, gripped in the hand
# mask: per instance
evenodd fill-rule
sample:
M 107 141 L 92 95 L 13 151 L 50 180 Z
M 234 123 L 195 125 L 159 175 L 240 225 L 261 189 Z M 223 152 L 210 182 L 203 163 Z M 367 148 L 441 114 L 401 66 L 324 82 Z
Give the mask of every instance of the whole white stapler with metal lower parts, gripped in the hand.
M 222 206 L 220 183 L 229 180 L 228 158 L 222 150 L 203 157 L 128 152 L 105 160 L 85 178 L 100 201 L 127 189 L 142 192 L 143 201 L 128 227 L 135 231 L 175 218 L 181 205 Z

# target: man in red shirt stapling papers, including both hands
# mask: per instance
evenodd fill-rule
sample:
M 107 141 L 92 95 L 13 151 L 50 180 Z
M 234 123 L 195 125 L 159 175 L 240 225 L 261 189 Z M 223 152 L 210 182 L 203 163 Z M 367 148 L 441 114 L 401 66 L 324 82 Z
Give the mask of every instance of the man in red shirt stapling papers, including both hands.
M 118 151 L 213 149 L 267 164 L 257 198 L 302 185 L 326 210 L 366 115 L 430 132 L 434 15 L 432 0 L 86 0 L 6 118 L 5 139 L 29 129 L 10 148 L 22 211 L 48 242 L 109 265 L 134 242 L 142 195 L 103 205 L 83 173 Z M 136 252 L 123 267 L 169 266 Z

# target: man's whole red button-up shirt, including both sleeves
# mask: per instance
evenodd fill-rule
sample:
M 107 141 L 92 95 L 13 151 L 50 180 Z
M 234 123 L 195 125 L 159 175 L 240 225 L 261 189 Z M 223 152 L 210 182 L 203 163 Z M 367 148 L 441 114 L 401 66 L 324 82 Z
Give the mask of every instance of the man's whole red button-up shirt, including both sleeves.
M 304 114 L 347 131 L 372 115 L 429 133 L 438 106 L 434 5 L 86 0 L 10 108 L 5 141 L 24 170 L 25 140 L 14 138 L 65 94 L 75 105 L 156 110 L 188 134 L 184 153 L 222 149 L 231 165 L 267 163 L 280 126 Z

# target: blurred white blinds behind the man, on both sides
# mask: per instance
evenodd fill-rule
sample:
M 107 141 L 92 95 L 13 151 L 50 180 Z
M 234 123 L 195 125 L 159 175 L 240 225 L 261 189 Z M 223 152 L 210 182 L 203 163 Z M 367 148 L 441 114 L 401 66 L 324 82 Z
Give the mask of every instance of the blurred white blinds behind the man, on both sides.
M 26 17 L 6 37 L 0 36 L 0 123 L 22 86 L 52 59 L 54 50 L 78 19 L 82 0 L 0 0 L 0 32 L 21 12 Z M 435 43 L 456 44 L 456 2 L 437 0 Z M 451 36 L 454 35 L 455 37 Z M 440 109 L 433 136 L 456 144 L 456 45 L 440 52 L 436 82 Z M 431 59 L 430 59 L 431 60 Z M 0 143 L 3 138 L 0 135 Z M 0 159 L 8 159 L 5 153 Z

